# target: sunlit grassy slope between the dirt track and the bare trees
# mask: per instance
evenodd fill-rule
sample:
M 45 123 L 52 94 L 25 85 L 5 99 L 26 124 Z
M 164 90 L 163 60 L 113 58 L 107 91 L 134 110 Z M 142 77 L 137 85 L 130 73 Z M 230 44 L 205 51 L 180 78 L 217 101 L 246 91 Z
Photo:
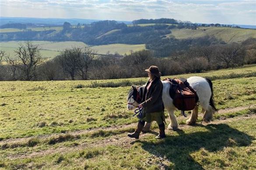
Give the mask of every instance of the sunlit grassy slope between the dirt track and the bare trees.
M 243 73 L 249 70 L 256 71 L 256 67 L 233 71 Z M 209 74 L 222 75 L 226 71 L 229 72 L 230 69 Z M 136 79 L 140 78 L 131 80 Z M 98 82 L 108 81 L 120 80 Z M 1 82 L 2 138 L 59 133 L 63 130 L 106 127 L 137 121 L 130 117 L 132 112 L 126 110 L 126 93 L 130 87 L 74 88 L 78 84 L 91 82 L 93 81 Z M 255 77 L 213 81 L 217 108 L 253 104 L 256 99 L 255 82 Z M 120 119 L 112 119 L 115 116 Z M 94 120 L 91 121 L 91 118 Z M 70 119 L 74 122 L 69 123 Z M 40 128 L 37 126 L 40 122 L 46 122 L 48 126 Z M 51 126 L 53 123 L 59 126 Z

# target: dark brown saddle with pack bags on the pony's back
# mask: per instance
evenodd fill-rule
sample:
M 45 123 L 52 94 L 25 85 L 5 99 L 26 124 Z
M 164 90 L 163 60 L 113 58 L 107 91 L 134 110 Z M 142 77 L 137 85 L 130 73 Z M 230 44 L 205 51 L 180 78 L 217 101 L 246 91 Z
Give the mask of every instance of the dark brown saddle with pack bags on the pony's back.
M 165 78 L 164 81 L 168 81 L 171 84 L 169 94 L 173 99 L 173 105 L 177 109 L 184 112 L 195 108 L 198 96 L 186 78 Z

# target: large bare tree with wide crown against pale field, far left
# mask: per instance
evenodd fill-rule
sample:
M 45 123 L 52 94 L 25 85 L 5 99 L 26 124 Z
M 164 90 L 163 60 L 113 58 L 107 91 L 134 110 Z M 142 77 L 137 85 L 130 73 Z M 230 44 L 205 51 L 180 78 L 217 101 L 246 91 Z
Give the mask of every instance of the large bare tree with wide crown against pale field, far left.
M 25 42 L 25 45 L 20 45 L 14 51 L 17 59 L 7 57 L 7 64 L 11 65 L 15 71 L 17 68 L 21 70 L 26 81 L 36 79 L 36 69 L 44 61 L 39 51 L 38 45 L 33 45 L 31 42 Z

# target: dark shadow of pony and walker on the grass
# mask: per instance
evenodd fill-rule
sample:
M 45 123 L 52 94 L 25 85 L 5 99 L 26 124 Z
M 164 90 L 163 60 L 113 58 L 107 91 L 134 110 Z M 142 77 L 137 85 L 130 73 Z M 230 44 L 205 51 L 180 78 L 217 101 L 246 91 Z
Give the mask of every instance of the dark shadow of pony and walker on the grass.
M 233 129 L 226 124 L 210 124 L 207 126 L 198 125 L 208 129 L 207 132 L 196 132 L 185 134 L 178 129 L 179 136 L 167 136 L 159 142 L 147 142 L 137 140 L 142 143 L 142 148 L 156 156 L 166 157 L 174 163 L 173 166 L 166 166 L 165 169 L 175 170 L 203 170 L 203 167 L 190 156 L 191 153 L 204 148 L 209 152 L 223 150 L 228 146 L 248 146 L 254 139 L 252 136 Z M 217 160 L 220 167 L 225 168 L 222 160 Z M 210 163 L 210 162 L 205 162 Z

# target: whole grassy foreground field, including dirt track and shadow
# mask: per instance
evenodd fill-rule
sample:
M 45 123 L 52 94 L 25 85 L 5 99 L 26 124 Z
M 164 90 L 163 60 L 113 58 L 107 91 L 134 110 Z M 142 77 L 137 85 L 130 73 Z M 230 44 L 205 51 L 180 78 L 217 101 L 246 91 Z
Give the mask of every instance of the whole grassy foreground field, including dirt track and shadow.
M 256 65 L 165 76 L 212 78 L 220 111 L 208 124 L 200 123 L 200 115 L 196 126 L 183 125 L 187 118 L 178 117 L 181 126 L 166 130 L 163 140 L 154 139 L 158 130 L 154 123 L 153 131 L 140 140 L 126 137 L 137 122 L 126 109 L 129 86 L 77 88 L 95 81 L 0 82 L 0 167 L 255 169 L 256 77 L 250 73 L 256 74 Z

